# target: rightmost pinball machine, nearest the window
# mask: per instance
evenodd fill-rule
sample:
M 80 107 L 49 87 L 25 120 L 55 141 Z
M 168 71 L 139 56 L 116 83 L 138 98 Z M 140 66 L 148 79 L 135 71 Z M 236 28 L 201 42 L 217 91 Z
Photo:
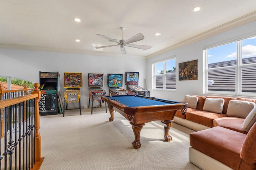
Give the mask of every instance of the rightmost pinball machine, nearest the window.
M 149 91 L 138 85 L 139 72 L 125 72 L 125 84 L 127 85 L 128 95 L 149 96 Z

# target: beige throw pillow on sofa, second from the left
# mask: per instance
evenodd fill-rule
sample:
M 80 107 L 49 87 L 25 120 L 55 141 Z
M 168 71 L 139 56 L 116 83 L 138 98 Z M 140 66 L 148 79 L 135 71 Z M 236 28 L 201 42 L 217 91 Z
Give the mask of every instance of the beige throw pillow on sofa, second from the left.
M 224 99 L 206 98 L 203 110 L 213 113 L 222 113 L 223 105 Z

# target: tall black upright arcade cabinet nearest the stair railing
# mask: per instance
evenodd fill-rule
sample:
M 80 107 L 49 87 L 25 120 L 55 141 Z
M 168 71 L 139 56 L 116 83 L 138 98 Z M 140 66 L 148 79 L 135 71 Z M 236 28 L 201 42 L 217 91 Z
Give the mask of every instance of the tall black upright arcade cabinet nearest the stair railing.
M 60 74 L 59 72 L 39 71 L 39 83 L 41 99 L 39 101 L 39 115 L 58 114 L 58 95 L 60 93 Z

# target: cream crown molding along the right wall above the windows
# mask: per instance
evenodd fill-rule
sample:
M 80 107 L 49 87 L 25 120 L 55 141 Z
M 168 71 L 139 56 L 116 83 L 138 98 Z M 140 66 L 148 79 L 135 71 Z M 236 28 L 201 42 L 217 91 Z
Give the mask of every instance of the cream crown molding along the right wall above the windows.
M 215 27 L 215 28 L 212 28 L 212 29 L 210 29 L 210 30 L 208 30 L 208 31 L 206 31 L 206 32 L 203 32 L 203 33 L 198 34 L 198 35 L 196 35 L 196 36 L 193 36 L 193 37 L 191 37 L 191 38 L 188 38 L 188 39 L 186 39 L 186 40 L 184 40 L 184 41 L 182 41 L 182 42 L 176 43 L 176 44 L 174 44 L 174 45 L 172 45 L 172 46 L 170 46 L 170 47 L 167 47 L 167 48 L 165 48 L 165 49 L 162 49 L 162 50 L 160 50 L 160 51 L 157 51 L 157 52 L 155 52 L 155 53 L 152 53 L 152 54 L 150 54 L 150 55 L 147 55 L 146 58 L 147 58 L 147 59 L 150 59 L 150 58 L 152 58 L 152 57 L 156 57 L 156 56 L 158 56 L 158 55 L 162 55 L 162 54 L 167 53 L 167 52 L 170 52 L 170 51 L 172 51 L 172 50 L 174 50 L 174 49 L 178 49 L 178 48 L 184 47 L 184 46 L 186 46 L 186 45 L 188 45 L 188 44 L 191 44 L 191 43 L 194 43 L 194 42 L 198 42 L 198 41 L 203 40 L 203 39 L 205 39 L 205 38 L 214 36 L 214 35 L 216 35 L 216 34 L 220 34 L 220 33 L 222 33 L 222 32 L 231 30 L 231 29 L 233 29 L 233 28 L 236 28 L 236 27 L 238 27 L 238 26 L 242 26 L 242 25 L 244 25 L 244 24 L 247 24 L 247 23 L 249 23 L 249 22 L 253 22 L 253 21 L 255 21 L 255 20 L 256 20 L 256 11 L 254 11 L 254 12 L 252 12 L 252 13 L 250 13 L 250 14 L 247 14 L 247 15 L 245 15 L 245 16 L 242 16 L 242 17 L 240 17 L 240 18 L 237 18 L 237 19 L 235 19 L 235 20 L 232 20 L 232 21 L 230 21 L 230 22 L 227 22 L 227 23 L 225 23 L 225 24 L 222 24 L 222 25 L 220 25 L 220 26 L 217 26 L 217 27 Z

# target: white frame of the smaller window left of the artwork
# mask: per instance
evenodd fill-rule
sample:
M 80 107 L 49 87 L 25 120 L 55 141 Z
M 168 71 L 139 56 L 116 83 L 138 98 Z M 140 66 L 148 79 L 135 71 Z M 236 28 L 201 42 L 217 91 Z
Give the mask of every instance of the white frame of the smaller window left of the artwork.
M 174 89 L 170 89 L 170 88 L 166 88 L 166 75 L 170 75 L 172 73 L 166 73 L 166 61 L 169 60 L 173 60 L 175 61 L 175 73 L 173 73 L 175 75 L 175 88 Z M 163 88 L 156 88 L 156 64 L 157 63 L 163 63 Z M 155 61 L 152 63 L 152 90 L 161 90 L 161 91 L 176 91 L 176 80 L 177 80 L 177 76 L 176 76 L 176 56 L 172 56 L 172 57 L 168 57 L 159 61 Z

